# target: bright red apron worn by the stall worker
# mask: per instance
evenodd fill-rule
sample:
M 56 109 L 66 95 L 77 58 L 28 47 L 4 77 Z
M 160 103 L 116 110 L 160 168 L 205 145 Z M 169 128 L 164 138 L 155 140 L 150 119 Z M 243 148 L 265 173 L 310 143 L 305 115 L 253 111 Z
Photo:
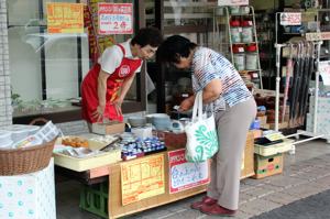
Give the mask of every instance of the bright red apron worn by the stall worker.
M 120 88 L 125 78 L 131 77 L 135 70 L 141 66 L 141 59 L 130 59 L 125 57 L 125 51 L 122 45 L 118 44 L 123 53 L 121 64 L 116 70 L 108 77 L 107 80 L 107 95 L 106 95 L 106 110 L 103 118 L 110 120 L 122 121 L 122 114 L 118 114 L 116 106 L 112 101 L 118 97 Z M 100 64 L 96 64 L 84 78 L 81 84 L 81 112 L 82 119 L 90 123 L 98 122 L 92 118 L 92 113 L 99 106 L 98 98 L 98 77 L 101 69 Z

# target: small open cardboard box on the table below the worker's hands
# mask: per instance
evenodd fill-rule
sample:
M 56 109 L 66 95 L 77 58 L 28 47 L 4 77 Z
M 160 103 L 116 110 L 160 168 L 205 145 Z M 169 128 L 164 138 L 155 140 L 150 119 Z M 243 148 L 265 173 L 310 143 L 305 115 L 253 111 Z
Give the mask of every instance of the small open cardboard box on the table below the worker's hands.
M 92 123 L 91 132 L 96 134 L 118 134 L 125 131 L 125 123 L 109 122 L 109 123 Z

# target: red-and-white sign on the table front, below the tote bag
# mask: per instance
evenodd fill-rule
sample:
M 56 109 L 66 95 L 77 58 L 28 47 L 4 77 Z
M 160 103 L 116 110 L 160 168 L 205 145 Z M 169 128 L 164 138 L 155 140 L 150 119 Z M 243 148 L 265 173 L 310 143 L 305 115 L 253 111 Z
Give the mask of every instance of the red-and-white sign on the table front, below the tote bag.
M 188 163 L 185 150 L 168 152 L 169 193 L 178 193 L 210 182 L 208 162 Z

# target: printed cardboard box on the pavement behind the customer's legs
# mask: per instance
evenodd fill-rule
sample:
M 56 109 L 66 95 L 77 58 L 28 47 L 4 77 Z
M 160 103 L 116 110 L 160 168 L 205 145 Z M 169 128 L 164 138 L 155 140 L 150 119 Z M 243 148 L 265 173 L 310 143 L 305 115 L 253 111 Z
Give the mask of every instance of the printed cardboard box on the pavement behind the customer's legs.
M 283 172 L 283 154 L 273 156 L 254 155 L 255 175 L 253 178 L 264 178 Z

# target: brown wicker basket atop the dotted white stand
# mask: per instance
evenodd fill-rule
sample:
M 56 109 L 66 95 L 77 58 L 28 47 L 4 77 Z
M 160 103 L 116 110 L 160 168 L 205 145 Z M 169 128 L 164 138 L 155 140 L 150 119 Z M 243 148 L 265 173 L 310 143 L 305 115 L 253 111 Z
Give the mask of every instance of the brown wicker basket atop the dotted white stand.
M 45 168 L 50 164 L 55 141 L 56 139 L 16 150 L 0 150 L 0 176 L 28 174 Z

